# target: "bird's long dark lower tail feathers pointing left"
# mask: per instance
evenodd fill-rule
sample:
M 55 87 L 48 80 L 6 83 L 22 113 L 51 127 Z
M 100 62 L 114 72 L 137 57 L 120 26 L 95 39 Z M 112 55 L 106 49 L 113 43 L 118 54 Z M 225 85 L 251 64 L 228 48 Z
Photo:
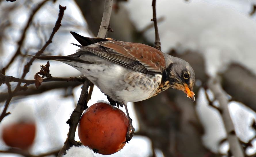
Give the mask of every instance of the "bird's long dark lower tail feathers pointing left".
M 56 61 L 68 61 L 68 62 L 93 64 L 92 62 L 80 59 L 79 56 L 78 57 L 70 57 L 70 56 L 33 56 L 33 58 L 37 58 L 37 59 L 41 59 L 41 60 L 56 60 Z

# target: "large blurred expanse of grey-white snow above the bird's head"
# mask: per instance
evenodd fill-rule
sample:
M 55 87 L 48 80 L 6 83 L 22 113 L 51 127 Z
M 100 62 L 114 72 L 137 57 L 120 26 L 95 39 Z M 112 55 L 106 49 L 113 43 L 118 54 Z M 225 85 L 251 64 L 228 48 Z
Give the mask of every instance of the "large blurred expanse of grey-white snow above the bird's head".
M 205 55 L 207 73 L 215 75 L 224 65 L 238 62 L 256 73 L 256 23 L 249 17 L 251 7 L 244 1 L 218 1 L 214 5 L 199 0 L 161 0 L 156 2 L 157 17 L 165 17 L 158 25 L 162 50 L 175 48 L 178 52 L 198 51 Z M 234 8 L 248 5 L 248 14 Z M 143 6 L 143 7 L 142 7 Z M 126 7 L 138 29 L 143 29 L 152 19 L 151 3 L 131 0 Z M 244 9 L 240 9 L 244 11 Z M 245 12 L 245 11 L 244 11 Z M 154 42 L 154 29 L 145 33 Z

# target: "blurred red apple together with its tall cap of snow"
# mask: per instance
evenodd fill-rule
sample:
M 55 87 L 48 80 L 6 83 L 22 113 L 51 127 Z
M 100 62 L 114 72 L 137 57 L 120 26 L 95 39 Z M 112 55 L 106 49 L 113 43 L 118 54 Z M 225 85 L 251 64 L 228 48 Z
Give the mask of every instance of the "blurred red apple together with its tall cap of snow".
M 11 114 L 3 119 L 0 126 L 0 138 L 9 147 L 28 151 L 34 143 L 37 125 L 33 107 L 20 103 L 10 106 Z

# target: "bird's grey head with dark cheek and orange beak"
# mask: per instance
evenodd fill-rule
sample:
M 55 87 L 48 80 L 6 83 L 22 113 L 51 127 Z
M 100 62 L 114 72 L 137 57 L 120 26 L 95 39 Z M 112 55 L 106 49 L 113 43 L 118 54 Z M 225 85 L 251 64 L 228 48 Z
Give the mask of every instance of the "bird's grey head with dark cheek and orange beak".
M 195 82 L 195 73 L 190 64 L 180 58 L 173 57 L 163 75 L 166 75 L 166 81 L 169 81 L 169 87 L 182 90 L 192 101 L 195 100 L 193 86 Z

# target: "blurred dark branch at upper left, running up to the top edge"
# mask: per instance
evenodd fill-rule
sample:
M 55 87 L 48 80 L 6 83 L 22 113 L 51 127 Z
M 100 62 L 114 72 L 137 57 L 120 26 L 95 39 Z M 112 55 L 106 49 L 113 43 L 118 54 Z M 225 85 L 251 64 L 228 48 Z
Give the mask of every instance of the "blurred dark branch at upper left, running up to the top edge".
M 14 59 L 18 56 L 18 55 L 21 55 L 21 52 L 20 52 L 20 49 L 23 45 L 23 42 L 24 42 L 24 39 L 25 39 L 25 36 L 26 36 L 26 32 L 28 30 L 28 27 L 30 26 L 30 23 L 34 17 L 34 15 L 36 14 L 36 12 L 49 0 L 44 0 L 42 1 L 39 5 L 37 5 L 37 7 L 35 7 L 32 11 L 31 11 L 31 14 L 30 14 L 30 17 L 28 19 L 28 22 L 27 22 L 27 25 L 25 26 L 24 30 L 23 30 L 23 33 L 21 35 L 21 38 L 20 40 L 18 41 L 18 49 L 16 50 L 14 56 L 12 57 L 12 59 L 9 61 L 9 63 L 5 66 L 5 69 L 7 69 L 11 64 L 12 62 L 14 61 Z M 55 0 L 54 0 L 55 1 Z

